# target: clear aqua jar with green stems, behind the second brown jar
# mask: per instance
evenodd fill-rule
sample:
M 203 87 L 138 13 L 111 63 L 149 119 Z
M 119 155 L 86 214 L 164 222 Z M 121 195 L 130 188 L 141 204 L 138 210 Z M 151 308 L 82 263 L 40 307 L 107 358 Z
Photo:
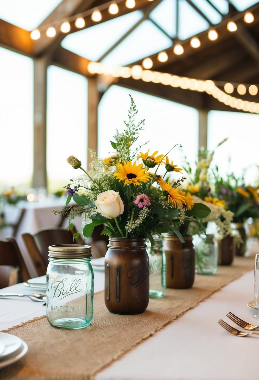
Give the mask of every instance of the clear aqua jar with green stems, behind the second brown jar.
M 216 274 L 218 269 L 218 243 L 213 234 L 193 236 L 195 248 L 195 272 Z

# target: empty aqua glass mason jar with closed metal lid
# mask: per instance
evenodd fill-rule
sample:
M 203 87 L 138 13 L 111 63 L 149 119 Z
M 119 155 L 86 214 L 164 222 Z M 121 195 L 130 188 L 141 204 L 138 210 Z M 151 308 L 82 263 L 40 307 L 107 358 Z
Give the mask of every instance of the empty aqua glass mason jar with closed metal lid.
M 93 268 L 89 245 L 49 246 L 47 320 L 63 329 L 87 327 L 93 318 Z

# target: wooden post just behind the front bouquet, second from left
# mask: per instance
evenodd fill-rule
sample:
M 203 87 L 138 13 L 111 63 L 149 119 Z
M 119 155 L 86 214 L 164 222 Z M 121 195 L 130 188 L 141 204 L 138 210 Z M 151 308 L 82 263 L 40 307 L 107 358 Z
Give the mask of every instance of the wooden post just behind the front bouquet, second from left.
M 88 150 L 87 150 L 87 165 L 90 169 L 92 157 L 89 149 L 97 152 L 97 109 L 100 100 L 100 94 L 97 89 L 97 77 L 88 78 Z

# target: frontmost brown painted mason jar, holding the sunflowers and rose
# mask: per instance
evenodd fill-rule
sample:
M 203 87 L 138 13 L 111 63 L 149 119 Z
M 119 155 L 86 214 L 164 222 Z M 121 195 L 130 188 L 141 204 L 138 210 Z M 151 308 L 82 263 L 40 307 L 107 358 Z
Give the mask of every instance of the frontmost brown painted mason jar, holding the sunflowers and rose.
M 104 277 L 104 299 L 110 312 L 143 313 L 149 302 L 149 260 L 145 238 L 110 237 Z

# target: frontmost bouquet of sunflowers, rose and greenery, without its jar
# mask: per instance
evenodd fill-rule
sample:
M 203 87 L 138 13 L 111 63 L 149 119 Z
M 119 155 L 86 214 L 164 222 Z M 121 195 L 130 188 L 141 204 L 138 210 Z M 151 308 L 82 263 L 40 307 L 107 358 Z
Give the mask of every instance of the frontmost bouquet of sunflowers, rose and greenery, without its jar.
M 138 111 L 131 95 L 130 99 L 129 119 L 124 121 L 126 127 L 122 133 L 117 130 L 115 141 L 111 141 L 115 150 L 113 155 L 97 158 L 92 151 L 89 172 L 82 168 L 78 158 L 69 156 L 67 159 L 74 169 L 80 168 L 84 172 L 83 176 L 73 178 L 66 186 L 66 205 L 72 198 L 78 204 L 69 214 L 69 223 L 74 215 L 81 215 L 85 221 L 82 230 L 85 237 L 92 235 L 95 226 L 104 225 L 102 234 L 110 237 L 147 237 L 153 244 L 152 234 L 171 232 L 184 242 L 172 220 L 180 212 L 183 223 L 185 211 L 191 211 L 193 207 L 191 196 L 178 190 L 186 178 L 172 183 L 164 180 L 167 173 L 182 171 L 167 156 L 174 147 L 166 155 L 158 154 L 158 151 L 150 154 L 149 149 L 142 153 L 140 150 L 147 143 L 136 147 L 145 120 L 134 122 Z M 165 169 L 163 178 L 157 174 L 160 166 Z M 207 210 L 203 206 L 202 209 Z

